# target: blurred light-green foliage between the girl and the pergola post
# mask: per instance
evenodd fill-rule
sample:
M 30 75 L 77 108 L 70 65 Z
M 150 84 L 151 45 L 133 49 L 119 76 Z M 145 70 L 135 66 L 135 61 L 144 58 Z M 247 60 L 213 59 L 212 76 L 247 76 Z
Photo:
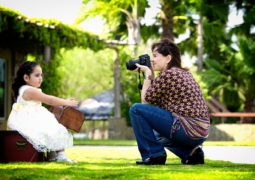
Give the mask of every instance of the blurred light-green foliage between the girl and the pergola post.
M 60 62 L 57 72 L 64 77 L 59 90 L 65 97 L 84 100 L 113 88 L 114 52 L 110 49 L 62 49 L 56 60 Z

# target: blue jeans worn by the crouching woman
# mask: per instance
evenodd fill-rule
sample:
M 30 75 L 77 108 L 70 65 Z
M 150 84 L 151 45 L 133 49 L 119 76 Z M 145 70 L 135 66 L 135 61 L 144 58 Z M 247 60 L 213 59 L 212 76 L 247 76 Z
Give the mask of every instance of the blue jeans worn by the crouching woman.
M 143 160 L 162 155 L 164 147 L 186 159 L 196 146 L 206 140 L 190 138 L 182 126 L 171 134 L 175 120 L 173 114 L 156 106 L 136 103 L 130 108 L 130 117 Z

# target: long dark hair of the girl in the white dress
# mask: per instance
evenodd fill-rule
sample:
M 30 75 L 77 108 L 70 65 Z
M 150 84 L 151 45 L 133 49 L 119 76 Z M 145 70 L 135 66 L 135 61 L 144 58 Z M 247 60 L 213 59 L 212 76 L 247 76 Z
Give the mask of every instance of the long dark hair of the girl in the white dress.
M 19 95 L 19 88 L 26 84 L 26 82 L 24 81 L 24 75 L 26 74 L 29 76 L 33 72 L 34 67 L 37 65 L 38 64 L 36 62 L 25 61 L 19 67 L 16 78 L 14 79 L 14 82 L 12 84 L 12 90 L 14 92 L 15 99 L 17 99 Z

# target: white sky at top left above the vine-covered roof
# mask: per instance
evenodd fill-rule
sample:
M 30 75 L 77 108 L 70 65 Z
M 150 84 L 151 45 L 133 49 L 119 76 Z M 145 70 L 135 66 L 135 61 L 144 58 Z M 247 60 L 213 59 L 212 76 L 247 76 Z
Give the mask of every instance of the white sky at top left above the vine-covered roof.
M 0 0 L 0 6 L 17 10 L 29 18 L 57 19 L 72 25 L 80 13 L 82 0 Z M 102 26 L 98 19 L 80 25 L 96 34 L 102 32 Z

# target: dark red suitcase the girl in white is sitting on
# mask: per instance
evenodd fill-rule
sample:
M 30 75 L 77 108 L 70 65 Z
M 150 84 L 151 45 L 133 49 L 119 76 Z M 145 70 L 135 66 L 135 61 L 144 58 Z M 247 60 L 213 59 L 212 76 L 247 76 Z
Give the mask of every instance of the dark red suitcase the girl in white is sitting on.
M 36 151 L 33 146 L 17 131 L 0 131 L 0 162 L 42 162 L 46 156 Z

